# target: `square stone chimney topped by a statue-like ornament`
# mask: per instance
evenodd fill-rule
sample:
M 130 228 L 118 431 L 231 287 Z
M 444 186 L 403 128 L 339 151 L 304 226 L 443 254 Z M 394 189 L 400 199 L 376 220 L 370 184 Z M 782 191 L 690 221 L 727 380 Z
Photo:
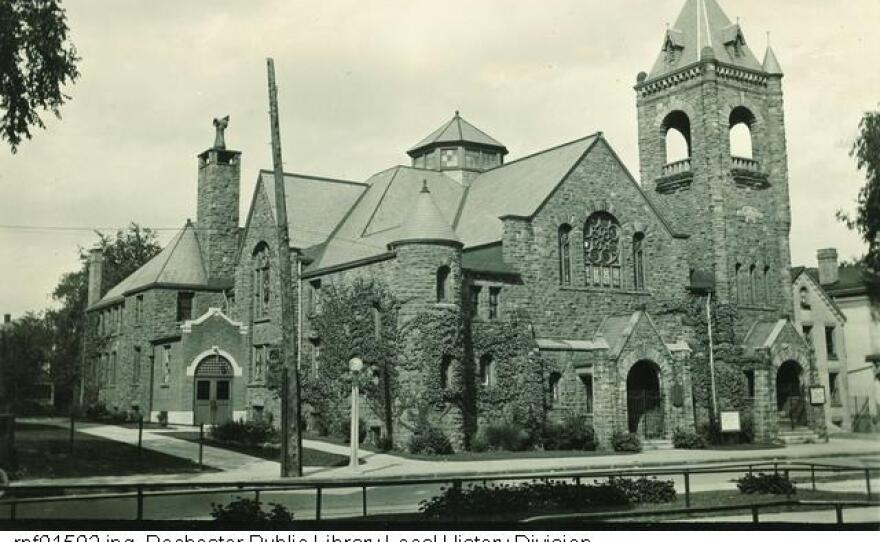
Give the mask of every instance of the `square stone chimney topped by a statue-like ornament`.
M 226 149 L 229 117 L 214 119 L 214 145 L 199 155 L 196 227 L 209 280 L 234 275 L 238 248 L 238 193 L 241 152 Z

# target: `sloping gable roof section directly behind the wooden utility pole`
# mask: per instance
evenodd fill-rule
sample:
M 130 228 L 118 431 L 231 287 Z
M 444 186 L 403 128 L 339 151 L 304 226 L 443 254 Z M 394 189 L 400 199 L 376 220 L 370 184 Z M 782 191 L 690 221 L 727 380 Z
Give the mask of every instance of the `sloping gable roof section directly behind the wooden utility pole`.
M 260 170 L 258 181 L 265 187 L 274 216 L 275 176 L 271 171 Z M 365 184 L 353 181 L 285 173 L 284 197 L 287 200 L 290 246 L 305 249 L 326 241 L 366 189 Z

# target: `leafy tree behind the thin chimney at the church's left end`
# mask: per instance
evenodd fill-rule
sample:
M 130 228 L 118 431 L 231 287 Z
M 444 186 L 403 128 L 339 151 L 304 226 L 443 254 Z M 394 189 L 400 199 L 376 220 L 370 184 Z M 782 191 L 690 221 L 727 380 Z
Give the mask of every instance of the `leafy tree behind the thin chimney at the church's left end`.
M 102 293 L 117 285 L 161 250 L 156 233 L 135 223 L 114 235 L 97 234 L 98 246 L 104 255 Z M 59 302 L 59 307 L 46 313 L 46 320 L 53 331 L 51 367 L 56 406 L 72 402 L 74 386 L 80 376 L 89 290 L 87 257 L 86 251 L 80 249 L 79 270 L 61 277 L 52 292 L 52 298 Z

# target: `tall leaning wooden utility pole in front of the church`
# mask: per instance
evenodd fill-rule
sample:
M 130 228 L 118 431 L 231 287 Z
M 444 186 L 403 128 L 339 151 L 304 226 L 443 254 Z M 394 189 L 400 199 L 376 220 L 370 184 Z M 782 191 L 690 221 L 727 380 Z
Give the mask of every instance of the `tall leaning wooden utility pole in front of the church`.
M 296 363 L 296 329 L 290 288 L 290 237 L 287 232 L 287 203 L 284 197 L 284 164 L 281 161 L 281 127 L 278 123 L 278 89 L 275 62 L 266 59 L 269 72 L 269 117 L 272 131 L 272 167 L 275 178 L 275 216 L 278 226 L 278 297 L 281 302 L 281 343 L 283 364 L 281 387 L 281 476 L 302 476 L 302 427 L 300 427 L 299 367 Z

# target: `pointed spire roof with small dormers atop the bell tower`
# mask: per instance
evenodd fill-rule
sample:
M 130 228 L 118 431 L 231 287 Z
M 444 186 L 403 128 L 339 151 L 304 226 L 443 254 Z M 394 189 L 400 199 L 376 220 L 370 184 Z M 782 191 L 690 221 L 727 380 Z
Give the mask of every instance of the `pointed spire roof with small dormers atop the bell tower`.
M 727 45 L 738 43 L 739 54 L 731 54 Z M 674 47 L 676 60 L 667 62 L 667 47 Z M 739 23 L 731 23 L 716 0 L 687 0 L 675 24 L 667 30 L 664 50 L 660 52 L 648 79 L 662 77 L 700 60 L 703 48 L 710 47 L 720 62 L 762 71 L 758 59 L 745 44 Z

